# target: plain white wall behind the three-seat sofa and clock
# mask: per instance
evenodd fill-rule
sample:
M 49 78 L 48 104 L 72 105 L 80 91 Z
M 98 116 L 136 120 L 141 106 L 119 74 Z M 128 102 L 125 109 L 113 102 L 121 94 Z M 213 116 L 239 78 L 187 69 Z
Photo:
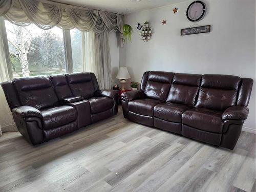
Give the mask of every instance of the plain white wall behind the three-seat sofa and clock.
M 255 130 L 255 0 L 204 0 L 207 13 L 197 24 L 211 25 L 211 32 L 180 36 L 181 29 L 193 25 L 185 14 L 191 2 L 126 15 L 125 24 L 134 32 L 132 42 L 119 49 L 120 66 L 128 67 L 132 80 L 139 82 L 151 70 L 253 78 L 244 126 Z M 136 27 L 146 20 L 154 34 L 143 42 Z

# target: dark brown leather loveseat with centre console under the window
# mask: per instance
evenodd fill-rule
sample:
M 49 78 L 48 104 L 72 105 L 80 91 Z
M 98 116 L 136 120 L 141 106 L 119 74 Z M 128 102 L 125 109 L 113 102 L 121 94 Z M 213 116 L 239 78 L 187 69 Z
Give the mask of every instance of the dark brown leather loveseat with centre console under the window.
M 3 82 L 18 131 L 33 145 L 116 115 L 118 91 L 99 90 L 93 73 Z

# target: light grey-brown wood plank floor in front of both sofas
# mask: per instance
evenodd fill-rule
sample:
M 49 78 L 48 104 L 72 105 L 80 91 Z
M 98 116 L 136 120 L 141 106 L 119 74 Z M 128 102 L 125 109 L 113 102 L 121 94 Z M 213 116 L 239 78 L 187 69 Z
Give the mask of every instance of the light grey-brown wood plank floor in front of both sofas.
M 0 191 L 255 191 L 255 135 L 233 151 L 118 115 L 32 146 L 0 137 Z

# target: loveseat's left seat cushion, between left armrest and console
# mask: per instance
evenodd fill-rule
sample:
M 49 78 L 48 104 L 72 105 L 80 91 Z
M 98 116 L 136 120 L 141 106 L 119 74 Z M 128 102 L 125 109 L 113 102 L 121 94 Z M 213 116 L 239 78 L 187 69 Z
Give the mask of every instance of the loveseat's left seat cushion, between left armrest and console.
M 40 111 L 44 130 L 62 126 L 77 119 L 76 109 L 68 105 L 55 106 Z

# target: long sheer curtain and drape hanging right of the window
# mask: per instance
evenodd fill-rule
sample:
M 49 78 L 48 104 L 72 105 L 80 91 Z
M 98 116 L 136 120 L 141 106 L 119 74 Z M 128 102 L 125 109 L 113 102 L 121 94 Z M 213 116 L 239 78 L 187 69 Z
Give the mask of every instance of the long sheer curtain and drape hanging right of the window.
M 93 72 L 100 89 L 111 89 L 111 58 L 108 31 L 97 35 L 93 31 L 82 35 L 82 69 Z

